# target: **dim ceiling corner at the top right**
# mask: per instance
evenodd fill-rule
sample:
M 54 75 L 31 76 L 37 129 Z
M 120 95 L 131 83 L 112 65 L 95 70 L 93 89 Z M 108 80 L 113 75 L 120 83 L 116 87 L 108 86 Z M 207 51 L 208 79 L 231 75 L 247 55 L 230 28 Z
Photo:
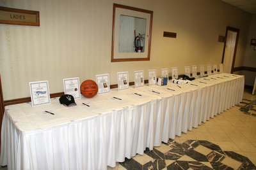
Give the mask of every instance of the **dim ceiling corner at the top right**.
M 243 11 L 256 14 L 256 0 L 221 0 L 225 3 L 232 4 Z

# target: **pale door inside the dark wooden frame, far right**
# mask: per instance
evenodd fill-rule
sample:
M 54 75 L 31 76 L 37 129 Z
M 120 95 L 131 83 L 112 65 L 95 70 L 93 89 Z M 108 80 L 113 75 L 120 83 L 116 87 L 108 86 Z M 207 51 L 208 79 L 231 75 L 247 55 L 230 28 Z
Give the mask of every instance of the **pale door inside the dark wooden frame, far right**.
M 236 36 L 237 36 L 237 32 L 228 30 L 225 54 L 224 54 L 224 60 L 223 60 L 224 73 L 231 73 L 232 62 L 233 62 L 235 46 L 236 46 Z

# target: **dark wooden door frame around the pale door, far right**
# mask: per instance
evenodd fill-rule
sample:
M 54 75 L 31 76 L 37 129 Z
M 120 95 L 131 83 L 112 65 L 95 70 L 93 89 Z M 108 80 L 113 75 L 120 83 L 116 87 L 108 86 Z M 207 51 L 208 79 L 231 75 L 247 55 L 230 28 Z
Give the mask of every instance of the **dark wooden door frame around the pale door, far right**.
M 234 71 L 234 65 L 235 65 L 235 60 L 236 60 L 236 50 L 237 50 L 237 44 L 238 44 L 238 39 L 239 39 L 239 29 L 236 29 L 234 27 L 228 27 L 226 29 L 226 35 L 225 35 L 225 43 L 224 43 L 224 48 L 223 48 L 223 53 L 222 53 L 222 60 L 221 63 L 223 64 L 224 62 L 224 55 L 225 55 L 225 48 L 226 48 L 226 42 L 227 42 L 227 35 L 228 35 L 228 31 L 234 31 L 236 32 L 236 45 L 235 45 L 235 49 L 234 49 L 234 55 L 233 55 L 233 60 L 232 60 L 232 67 L 231 67 L 231 73 L 233 73 Z

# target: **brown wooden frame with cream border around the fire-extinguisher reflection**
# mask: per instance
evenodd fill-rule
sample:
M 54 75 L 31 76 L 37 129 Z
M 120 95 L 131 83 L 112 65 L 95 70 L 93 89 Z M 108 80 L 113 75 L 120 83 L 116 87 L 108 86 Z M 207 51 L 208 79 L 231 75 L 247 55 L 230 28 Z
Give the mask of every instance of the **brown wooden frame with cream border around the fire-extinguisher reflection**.
M 143 50 L 138 50 L 136 48 L 136 45 L 134 45 L 134 42 L 136 42 L 136 34 L 140 33 L 139 31 L 136 32 L 136 29 L 138 27 L 134 26 L 134 33 L 132 32 L 132 28 L 129 29 L 129 34 L 127 32 L 124 32 L 120 28 L 122 27 L 121 24 L 124 23 L 124 20 L 122 18 L 134 18 L 134 25 L 142 25 L 141 23 L 145 23 L 142 27 L 145 27 L 145 33 L 143 38 Z M 121 20 L 120 20 L 121 19 Z M 153 20 L 153 11 L 149 10 L 143 10 L 140 8 L 134 8 L 131 6 L 124 6 L 122 4 L 113 4 L 113 30 L 112 30 L 112 48 L 111 48 L 111 62 L 122 62 L 122 61 L 139 61 L 139 60 L 150 60 L 150 46 L 151 46 L 151 34 L 152 34 L 152 20 Z M 129 25 L 129 24 L 128 24 Z M 141 27 L 141 26 L 140 26 Z M 140 29 L 139 29 L 140 30 Z M 120 50 L 120 44 L 122 44 L 122 41 L 128 41 L 124 40 L 127 38 L 121 38 L 124 37 L 124 34 L 121 33 L 124 32 L 125 36 L 129 37 L 129 48 L 134 51 L 123 51 Z M 126 34 L 127 33 L 127 34 Z M 138 35 L 143 35 L 138 34 Z M 139 38 L 140 39 L 140 38 Z M 122 41 L 121 41 L 122 40 Z M 142 41 L 141 41 L 142 42 Z M 126 43 L 126 42 L 125 42 Z M 126 47 L 125 47 L 126 48 Z

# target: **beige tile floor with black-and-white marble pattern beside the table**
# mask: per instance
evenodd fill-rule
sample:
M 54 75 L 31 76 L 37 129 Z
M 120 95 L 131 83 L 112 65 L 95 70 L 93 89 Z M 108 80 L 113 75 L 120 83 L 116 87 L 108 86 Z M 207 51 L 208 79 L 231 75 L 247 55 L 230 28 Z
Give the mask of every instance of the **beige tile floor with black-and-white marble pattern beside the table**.
M 243 101 L 198 128 L 111 169 L 256 169 L 256 99 Z

